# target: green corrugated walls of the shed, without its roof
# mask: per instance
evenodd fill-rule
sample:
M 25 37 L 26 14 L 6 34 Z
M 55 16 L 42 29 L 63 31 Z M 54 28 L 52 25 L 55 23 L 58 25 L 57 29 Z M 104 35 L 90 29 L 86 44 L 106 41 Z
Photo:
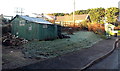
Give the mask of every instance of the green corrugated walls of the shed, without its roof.
M 27 40 L 47 40 L 57 38 L 57 25 L 36 24 L 25 21 L 20 25 L 22 18 L 15 18 L 12 23 L 12 34 L 23 37 Z

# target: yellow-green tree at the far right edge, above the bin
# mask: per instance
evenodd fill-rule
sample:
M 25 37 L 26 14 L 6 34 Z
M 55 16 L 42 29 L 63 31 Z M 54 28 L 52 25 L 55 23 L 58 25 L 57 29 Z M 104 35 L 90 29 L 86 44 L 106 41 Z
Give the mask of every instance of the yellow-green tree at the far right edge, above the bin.
M 114 23 L 117 21 L 119 9 L 116 7 L 111 7 L 106 9 L 106 22 Z

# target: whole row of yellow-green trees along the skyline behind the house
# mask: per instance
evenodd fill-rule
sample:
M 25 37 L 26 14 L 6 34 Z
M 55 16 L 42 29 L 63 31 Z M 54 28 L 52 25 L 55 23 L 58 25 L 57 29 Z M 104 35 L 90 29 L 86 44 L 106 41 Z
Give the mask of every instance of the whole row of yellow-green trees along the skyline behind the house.
M 64 16 L 64 15 L 72 15 L 69 13 L 53 13 L 54 16 Z M 105 18 L 106 22 L 115 23 L 117 22 L 117 17 L 119 14 L 119 9 L 116 7 L 111 8 L 93 8 L 87 10 L 77 10 L 75 11 L 75 15 L 89 14 L 90 20 L 93 23 L 104 24 Z

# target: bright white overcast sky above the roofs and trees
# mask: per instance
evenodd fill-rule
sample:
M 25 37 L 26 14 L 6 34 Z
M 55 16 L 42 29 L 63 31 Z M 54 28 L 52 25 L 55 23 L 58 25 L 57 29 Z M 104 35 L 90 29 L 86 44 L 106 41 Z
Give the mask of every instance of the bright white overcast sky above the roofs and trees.
M 118 7 L 120 0 L 75 0 L 75 10 Z M 14 16 L 17 8 L 25 15 L 32 13 L 71 13 L 74 0 L 2 0 L 0 14 Z

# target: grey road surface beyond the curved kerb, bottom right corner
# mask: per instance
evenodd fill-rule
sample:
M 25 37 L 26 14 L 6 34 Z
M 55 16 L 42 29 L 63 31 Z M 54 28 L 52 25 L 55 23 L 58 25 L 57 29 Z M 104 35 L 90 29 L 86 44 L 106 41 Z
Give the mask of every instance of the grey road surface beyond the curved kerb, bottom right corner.
M 118 69 L 118 49 L 115 49 L 114 52 L 98 63 L 92 65 L 89 69 Z

